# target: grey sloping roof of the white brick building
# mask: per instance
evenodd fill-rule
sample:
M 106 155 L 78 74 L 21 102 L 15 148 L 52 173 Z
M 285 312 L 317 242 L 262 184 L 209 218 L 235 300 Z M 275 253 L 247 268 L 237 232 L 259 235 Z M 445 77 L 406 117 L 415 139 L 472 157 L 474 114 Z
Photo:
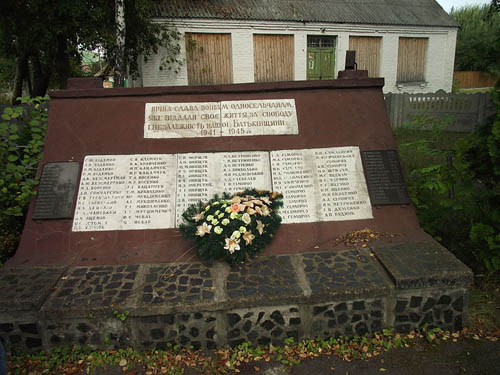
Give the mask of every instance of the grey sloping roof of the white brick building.
M 435 0 L 163 0 L 157 17 L 447 26 Z

